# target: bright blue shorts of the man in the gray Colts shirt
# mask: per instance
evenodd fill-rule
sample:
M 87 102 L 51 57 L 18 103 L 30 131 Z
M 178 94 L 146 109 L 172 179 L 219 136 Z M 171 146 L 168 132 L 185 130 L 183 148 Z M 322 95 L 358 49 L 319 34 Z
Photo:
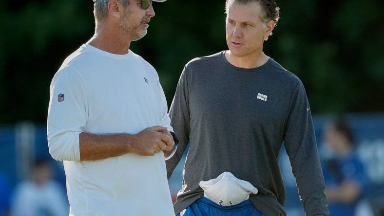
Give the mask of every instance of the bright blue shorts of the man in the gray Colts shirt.
M 180 213 L 176 216 L 180 216 Z M 259 212 L 249 199 L 232 206 L 221 206 L 202 197 L 188 206 L 183 216 L 266 216 Z

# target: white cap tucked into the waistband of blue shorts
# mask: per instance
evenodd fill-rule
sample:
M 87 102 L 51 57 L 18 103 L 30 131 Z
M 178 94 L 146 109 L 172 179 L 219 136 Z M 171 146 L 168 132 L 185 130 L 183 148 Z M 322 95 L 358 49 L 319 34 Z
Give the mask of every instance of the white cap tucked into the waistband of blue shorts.
M 239 180 L 230 172 L 224 172 L 216 179 L 200 181 L 199 185 L 204 190 L 204 197 L 222 206 L 238 204 L 250 198 L 250 194 L 257 194 L 257 188 L 250 182 Z

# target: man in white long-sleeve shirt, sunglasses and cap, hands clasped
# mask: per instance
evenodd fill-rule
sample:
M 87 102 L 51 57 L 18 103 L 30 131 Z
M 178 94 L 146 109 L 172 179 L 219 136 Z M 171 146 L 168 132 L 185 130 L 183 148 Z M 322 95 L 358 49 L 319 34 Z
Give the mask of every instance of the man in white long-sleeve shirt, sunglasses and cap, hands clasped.
M 50 88 L 49 152 L 64 163 L 70 216 L 171 216 L 165 158 L 177 138 L 157 72 L 129 50 L 152 0 L 94 1 L 95 35 Z

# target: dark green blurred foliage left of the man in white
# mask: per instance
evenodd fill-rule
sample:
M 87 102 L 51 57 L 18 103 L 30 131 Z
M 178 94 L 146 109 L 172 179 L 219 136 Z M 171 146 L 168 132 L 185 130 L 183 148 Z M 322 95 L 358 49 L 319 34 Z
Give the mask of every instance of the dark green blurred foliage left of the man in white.
M 0 4 L 0 123 L 45 122 L 54 73 L 93 34 L 92 2 Z

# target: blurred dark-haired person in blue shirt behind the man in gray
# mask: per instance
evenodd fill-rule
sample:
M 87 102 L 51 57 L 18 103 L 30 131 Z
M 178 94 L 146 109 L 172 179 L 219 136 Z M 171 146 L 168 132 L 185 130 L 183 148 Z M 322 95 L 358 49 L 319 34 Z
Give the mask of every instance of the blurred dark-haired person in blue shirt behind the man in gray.
M 352 131 L 343 117 L 325 125 L 324 141 L 327 151 L 322 168 L 329 214 L 354 216 L 356 203 L 363 193 L 365 172 L 355 150 Z

